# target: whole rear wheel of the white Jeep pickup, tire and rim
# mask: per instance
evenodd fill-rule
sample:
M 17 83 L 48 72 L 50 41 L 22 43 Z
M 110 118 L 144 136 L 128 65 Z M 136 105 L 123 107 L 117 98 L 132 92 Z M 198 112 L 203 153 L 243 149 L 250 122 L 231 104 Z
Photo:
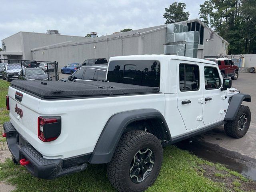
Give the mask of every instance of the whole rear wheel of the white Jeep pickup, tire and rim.
M 108 179 L 118 191 L 144 191 L 156 180 L 162 160 L 162 145 L 154 135 L 141 130 L 124 133 L 107 166 Z

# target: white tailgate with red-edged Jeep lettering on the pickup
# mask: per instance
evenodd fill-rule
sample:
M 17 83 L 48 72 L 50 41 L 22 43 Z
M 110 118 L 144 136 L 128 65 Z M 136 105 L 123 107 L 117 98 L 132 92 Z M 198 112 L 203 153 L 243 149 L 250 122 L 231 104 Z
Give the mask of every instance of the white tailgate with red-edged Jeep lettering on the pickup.
M 10 121 L 30 144 L 38 143 L 38 107 L 40 99 L 9 87 Z

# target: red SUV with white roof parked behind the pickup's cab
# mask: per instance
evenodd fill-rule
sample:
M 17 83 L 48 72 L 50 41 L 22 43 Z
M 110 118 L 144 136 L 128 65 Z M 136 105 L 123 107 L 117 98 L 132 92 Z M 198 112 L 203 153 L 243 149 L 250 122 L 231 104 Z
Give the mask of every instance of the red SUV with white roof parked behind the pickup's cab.
M 204 59 L 214 61 L 218 64 L 223 78 L 231 77 L 232 80 L 238 79 L 239 67 L 226 56 L 205 56 Z

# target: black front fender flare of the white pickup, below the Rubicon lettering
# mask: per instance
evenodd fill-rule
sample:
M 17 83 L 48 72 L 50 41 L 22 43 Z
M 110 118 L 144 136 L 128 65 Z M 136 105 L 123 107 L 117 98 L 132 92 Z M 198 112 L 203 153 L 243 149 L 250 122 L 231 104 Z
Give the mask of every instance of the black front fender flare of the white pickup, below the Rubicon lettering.
M 235 119 L 238 109 L 243 101 L 251 102 L 251 96 L 249 94 L 237 93 L 230 98 L 228 110 L 224 120 L 232 121 Z

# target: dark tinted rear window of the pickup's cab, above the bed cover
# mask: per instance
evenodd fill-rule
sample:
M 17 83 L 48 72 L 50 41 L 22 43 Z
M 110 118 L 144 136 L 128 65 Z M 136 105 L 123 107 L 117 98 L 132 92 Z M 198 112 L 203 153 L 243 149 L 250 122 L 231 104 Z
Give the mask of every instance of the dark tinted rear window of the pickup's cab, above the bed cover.
M 111 61 L 107 80 L 110 82 L 160 87 L 160 62 L 156 60 Z

